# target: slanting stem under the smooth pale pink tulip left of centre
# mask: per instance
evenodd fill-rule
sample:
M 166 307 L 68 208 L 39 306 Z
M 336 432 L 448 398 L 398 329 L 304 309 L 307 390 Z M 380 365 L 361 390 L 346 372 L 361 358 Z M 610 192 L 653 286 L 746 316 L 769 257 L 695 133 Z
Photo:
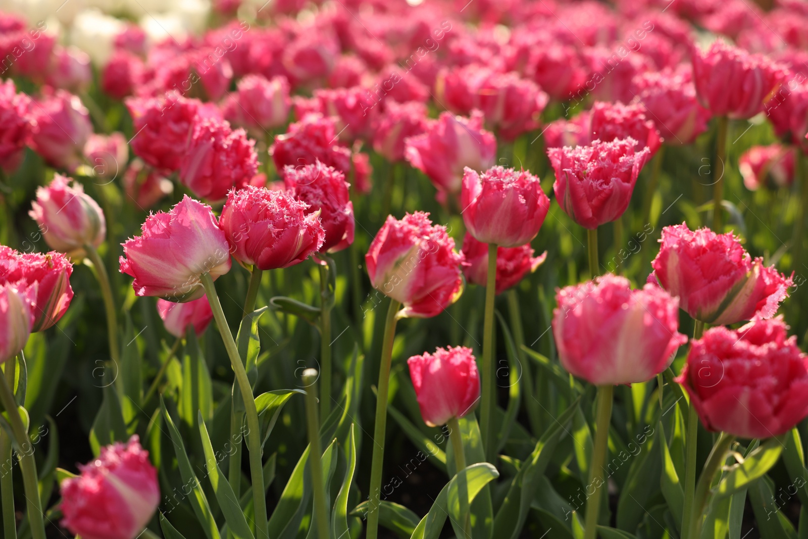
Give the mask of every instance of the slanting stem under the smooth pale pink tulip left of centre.
M 255 408 L 255 398 L 253 398 L 252 387 L 247 379 L 241 356 L 238 355 L 238 347 L 227 325 L 224 311 L 221 310 L 219 296 L 216 293 L 216 286 L 213 278 L 205 272 L 200 276 L 204 291 L 208 295 L 210 308 L 213 310 L 213 318 L 221 333 L 221 340 L 225 343 L 227 355 L 230 357 L 230 364 L 236 374 L 238 388 L 241 390 L 247 418 L 247 448 L 250 450 L 250 478 L 252 479 L 253 507 L 255 507 L 255 537 L 256 539 L 269 539 L 267 529 L 267 499 L 263 491 L 263 465 L 261 463 L 261 427 L 258 420 L 258 411 Z

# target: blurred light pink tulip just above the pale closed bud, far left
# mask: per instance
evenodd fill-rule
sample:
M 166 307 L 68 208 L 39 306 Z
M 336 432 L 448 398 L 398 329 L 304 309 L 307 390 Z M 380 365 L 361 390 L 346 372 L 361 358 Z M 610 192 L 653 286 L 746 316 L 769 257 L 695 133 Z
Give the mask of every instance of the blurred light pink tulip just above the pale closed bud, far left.
M 31 112 L 37 126 L 32 149 L 50 165 L 74 171 L 82 162 L 84 144 L 93 132 L 90 113 L 82 100 L 78 95 L 45 86 Z

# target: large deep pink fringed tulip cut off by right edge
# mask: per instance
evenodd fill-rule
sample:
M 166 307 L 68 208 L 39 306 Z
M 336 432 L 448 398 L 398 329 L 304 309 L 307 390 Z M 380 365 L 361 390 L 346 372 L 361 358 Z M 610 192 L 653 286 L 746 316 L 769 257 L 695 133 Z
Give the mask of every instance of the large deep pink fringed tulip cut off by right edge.
M 808 415 L 808 356 L 781 317 L 692 342 L 676 378 L 710 431 L 741 438 L 785 434 Z

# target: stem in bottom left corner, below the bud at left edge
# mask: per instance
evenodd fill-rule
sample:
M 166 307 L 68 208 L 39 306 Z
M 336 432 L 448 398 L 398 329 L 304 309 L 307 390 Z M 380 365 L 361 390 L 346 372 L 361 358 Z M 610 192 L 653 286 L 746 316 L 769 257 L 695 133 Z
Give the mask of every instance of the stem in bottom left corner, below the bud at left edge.
M 15 360 L 8 360 L 15 361 Z M 9 362 L 6 361 L 6 368 Z M 6 409 L 8 419 L 11 422 L 11 432 L 17 441 L 17 458 L 19 458 L 19 468 L 23 472 L 23 486 L 25 488 L 25 498 L 27 499 L 28 523 L 31 524 L 31 537 L 33 539 L 45 539 L 45 524 L 42 520 L 42 502 L 40 501 L 39 479 L 36 475 L 36 460 L 34 460 L 34 448 L 31 440 L 28 439 L 27 430 L 23 424 L 23 418 L 19 415 L 17 401 L 14 398 L 14 378 L 11 370 L 8 378 L 2 378 L 0 382 L 0 401 Z M 11 387 L 9 383 L 11 382 Z

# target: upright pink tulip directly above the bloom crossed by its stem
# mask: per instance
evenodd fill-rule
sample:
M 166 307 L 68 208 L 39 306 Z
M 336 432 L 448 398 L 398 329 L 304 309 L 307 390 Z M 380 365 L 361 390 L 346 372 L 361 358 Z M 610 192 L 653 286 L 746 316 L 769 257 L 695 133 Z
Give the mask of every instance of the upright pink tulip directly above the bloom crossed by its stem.
M 545 222 L 550 200 L 541 181 L 528 171 L 493 166 L 463 175 L 463 222 L 480 242 L 517 247 L 529 243 Z

